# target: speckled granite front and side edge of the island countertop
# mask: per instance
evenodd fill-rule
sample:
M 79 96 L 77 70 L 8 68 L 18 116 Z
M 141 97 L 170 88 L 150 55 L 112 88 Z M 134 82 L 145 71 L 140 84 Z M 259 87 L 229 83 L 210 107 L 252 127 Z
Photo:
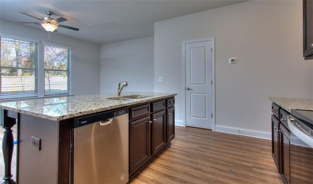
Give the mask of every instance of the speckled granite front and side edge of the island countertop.
M 124 104 L 119 104 L 119 105 L 112 105 L 112 106 L 108 106 L 108 107 L 92 109 L 92 110 L 87 110 L 87 111 L 83 111 L 83 112 L 67 114 L 67 115 L 63 115 L 63 116 L 49 116 L 49 115 L 44 115 L 44 114 L 40 114 L 40 113 L 36 113 L 36 112 L 25 111 L 25 110 L 22 110 L 22 109 L 16 109 L 16 108 L 2 106 L 2 105 L 0 105 L 0 108 L 4 109 L 4 110 L 9 110 L 9 111 L 17 112 L 17 113 L 22 113 L 22 114 L 38 117 L 38 118 L 43 118 L 43 119 L 46 119 L 46 120 L 62 121 L 62 120 L 67 120 L 67 119 L 71 119 L 71 118 L 76 118 L 76 117 L 79 117 L 79 116 L 84 116 L 84 115 L 94 114 L 94 113 L 108 111 L 108 110 L 112 110 L 112 109 L 127 107 L 127 106 L 131 106 L 131 105 L 135 105 L 135 104 L 140 104 L 140 103 L 144 103 L 144 102 L 151 102 L 151 101 L 156 101 L 156 100 L 160 100 L 160 99 L 164 99 L 164 98 L 175 97 L 176 95 L 177 95 L 176 93 L 173 93 L 173 94 L 163 95 L 163 96 L 159 96 L 159 97 L 151 97 L 149 99 L 140 99 L 138 101 L 132 101 L 132 102 L 129 102 L 129 103 L 124 103 Z

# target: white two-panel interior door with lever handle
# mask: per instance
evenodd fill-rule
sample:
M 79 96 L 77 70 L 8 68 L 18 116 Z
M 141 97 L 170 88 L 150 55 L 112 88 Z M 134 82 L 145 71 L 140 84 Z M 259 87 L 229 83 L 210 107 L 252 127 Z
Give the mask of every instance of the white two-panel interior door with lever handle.
M 212 129 L 211 42 L 185 44 L 186 126 Z

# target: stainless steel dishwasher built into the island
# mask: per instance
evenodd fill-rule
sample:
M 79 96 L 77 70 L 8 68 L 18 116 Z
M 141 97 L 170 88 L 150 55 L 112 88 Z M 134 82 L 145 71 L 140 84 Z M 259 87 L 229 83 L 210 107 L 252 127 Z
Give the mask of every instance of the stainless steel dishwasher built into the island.
M 71 183 L 126 184 L 129 178 L 127 109 L 76 118 Z

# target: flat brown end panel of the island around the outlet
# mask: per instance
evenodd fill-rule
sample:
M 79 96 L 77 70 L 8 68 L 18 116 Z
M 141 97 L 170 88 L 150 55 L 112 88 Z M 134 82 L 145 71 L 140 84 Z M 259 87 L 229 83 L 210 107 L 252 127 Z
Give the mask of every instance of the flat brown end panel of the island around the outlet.
M 18 183 L 58 183 L 59 122 L 20 114 Z M 31 136 L 41 139 L 40 151 L 31 147 Z

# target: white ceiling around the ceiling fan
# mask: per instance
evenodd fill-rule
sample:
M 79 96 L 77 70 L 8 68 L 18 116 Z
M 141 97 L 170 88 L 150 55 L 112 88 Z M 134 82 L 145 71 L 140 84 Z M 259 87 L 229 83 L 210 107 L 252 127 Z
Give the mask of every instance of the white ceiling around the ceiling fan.
M 94 43 L 109 43 L 154 35 L 154 22 L 171 19 L 245 0 L 0 0 L 0 19 L 17 23 L 36 22 L 19 11 L 38 18 L 49 10 L 64 17 L 61 24 L 79 31 L 59 27 L 57 33 Z M 44 28 L 24 24 L 36 29 Z

